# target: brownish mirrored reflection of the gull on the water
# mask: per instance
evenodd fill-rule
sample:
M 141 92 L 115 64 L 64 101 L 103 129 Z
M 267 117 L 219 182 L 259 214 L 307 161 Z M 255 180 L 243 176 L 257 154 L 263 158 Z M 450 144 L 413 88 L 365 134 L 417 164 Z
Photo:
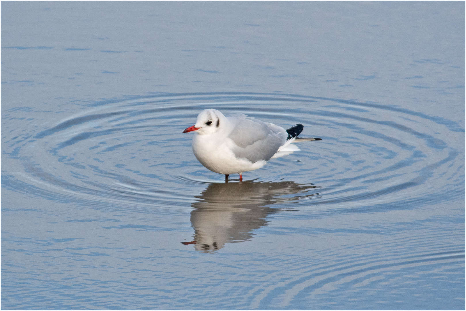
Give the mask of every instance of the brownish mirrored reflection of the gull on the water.
M 212 253 L 226 242 L 246 241 L 252 237 L 251 231 L 266 225 L 268 214 L 283 211 L 287 202 L 318 194 L 312 191 L 314 188 L 320 187 L 293 181 L 209 185 L 191 205 L 194 241 L 183 244 L 194 244 L 194 249 Z M 277 203 L 282 207 L 271 207 Z

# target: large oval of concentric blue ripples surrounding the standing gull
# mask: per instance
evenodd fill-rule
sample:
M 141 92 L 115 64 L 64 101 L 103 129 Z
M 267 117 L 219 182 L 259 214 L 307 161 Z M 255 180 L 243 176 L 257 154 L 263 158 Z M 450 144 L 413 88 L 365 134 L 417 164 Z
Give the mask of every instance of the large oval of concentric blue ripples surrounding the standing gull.
M 28 120 L 26 130 L 12 120 L 32 111 L 4 111 L 4 129 L 14 132 L 4 143 L 5 187 L 78 204 L 189 207 L 199 189 L 223 176 L 200 165 L 191 151 L 192 134 L 181 132 L 199 111 L 216 108 L 283 127 L 302 123 L 301 136 L 322 138 L 299 143 L 301 152 L 244 174 L 254 182 L 292 180 L 319 187 L 319 195 L 294 200 L 294 207 L 312 200 L 333 212 L 412 208 L 462 195 L 463 154 L 453 145 L 464 130 L 396 105 L 259 93 L 155 94 L 66 104 L 75 107 L 70 117 L 34 111 L 37 117 Z

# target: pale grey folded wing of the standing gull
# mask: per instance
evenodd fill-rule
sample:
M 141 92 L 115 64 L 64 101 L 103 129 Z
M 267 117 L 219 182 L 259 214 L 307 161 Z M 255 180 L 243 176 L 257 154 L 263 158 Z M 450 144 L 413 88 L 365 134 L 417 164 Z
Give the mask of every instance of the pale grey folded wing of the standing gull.
M 236 145 L 233 148 L 234 155 L 253 163 L 272 158 L 288 136 L 280 126 L 253 117 L 236 115 L 231 117 L 230 121 L 234 127 L 228 138 Z

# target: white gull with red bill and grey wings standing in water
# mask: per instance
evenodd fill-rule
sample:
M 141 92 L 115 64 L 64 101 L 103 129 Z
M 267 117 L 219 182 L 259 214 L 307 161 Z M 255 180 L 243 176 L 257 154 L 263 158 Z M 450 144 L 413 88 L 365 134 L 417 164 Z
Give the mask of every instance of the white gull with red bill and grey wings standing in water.
M 192 138 L 192 152 L 199 162 L 212 172 L 228 175 L 253 171 L 268 160 L 299 151 L 294 141 L 322 140 L 298 138 L 304 126 L 296 124 L 288 130 L 239 113 L 225 117 L 220 111 L 201 111 L 196 124 L 183 133 L 196 131 Z

